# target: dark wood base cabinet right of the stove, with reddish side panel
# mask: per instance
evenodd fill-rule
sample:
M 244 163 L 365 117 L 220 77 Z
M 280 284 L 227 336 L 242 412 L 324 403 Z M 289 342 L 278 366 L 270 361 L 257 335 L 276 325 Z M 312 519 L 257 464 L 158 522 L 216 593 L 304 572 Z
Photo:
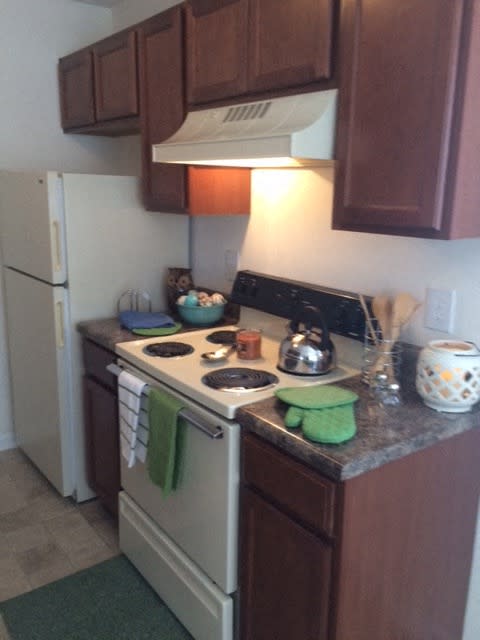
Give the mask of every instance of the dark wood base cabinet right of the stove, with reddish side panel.
M 242 439 L 240 638 L 461 638 L 480 429 L 333 482 Z

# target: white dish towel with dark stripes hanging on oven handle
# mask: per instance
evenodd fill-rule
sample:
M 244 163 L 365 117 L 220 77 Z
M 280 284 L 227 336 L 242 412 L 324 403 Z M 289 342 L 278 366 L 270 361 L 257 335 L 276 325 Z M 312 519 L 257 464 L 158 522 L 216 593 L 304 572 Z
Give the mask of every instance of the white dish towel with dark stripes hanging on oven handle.
M 144 450 L 138 441 L 142 404 L 146 398 L 147 383 L 128 371 L 118 376 L 118 413 L 120 417 L 120 449 L 128 466 L 133 467 L 137 455 Z M 141 446 L 140 446 L 141 445 Z

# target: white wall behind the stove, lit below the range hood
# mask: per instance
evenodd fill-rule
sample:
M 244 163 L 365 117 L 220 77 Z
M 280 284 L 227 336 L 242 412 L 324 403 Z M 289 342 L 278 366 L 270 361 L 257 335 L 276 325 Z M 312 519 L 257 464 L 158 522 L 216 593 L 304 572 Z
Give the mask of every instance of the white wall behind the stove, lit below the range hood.
M 427 287 L 454 289 L 454 335 L 480 344 L 480 238 L 441 241 L 333 231 L 332 196 L 333 169 L 254 170 L 250 216 L 194 219 L 194 272 L 206 284 L 229 286 L 224 251 L 238 249 L 242 269 L 368 295 L 409 291 L 423 302 Z M 424 345 L 447 336 L 423 327 L 422 308 L 402 338 Z

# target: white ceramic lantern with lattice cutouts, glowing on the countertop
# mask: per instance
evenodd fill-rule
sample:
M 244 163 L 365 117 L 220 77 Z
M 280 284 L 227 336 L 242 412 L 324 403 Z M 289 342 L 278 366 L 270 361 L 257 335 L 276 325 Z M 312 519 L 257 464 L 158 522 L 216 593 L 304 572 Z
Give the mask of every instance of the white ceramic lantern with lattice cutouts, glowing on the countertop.
M 480 351 L 472 342 L 432 340 L 420 352 L 416 387 L 432 409 L 469 411 L 480 400 Z

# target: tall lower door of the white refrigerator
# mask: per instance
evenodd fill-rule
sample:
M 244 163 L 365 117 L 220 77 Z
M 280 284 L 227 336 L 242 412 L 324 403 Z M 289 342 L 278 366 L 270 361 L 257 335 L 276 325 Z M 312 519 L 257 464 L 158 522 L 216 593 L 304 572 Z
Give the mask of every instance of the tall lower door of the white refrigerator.
M 4 272 L 15 437 L 57 490 L 71 495 L 67 291 Z

